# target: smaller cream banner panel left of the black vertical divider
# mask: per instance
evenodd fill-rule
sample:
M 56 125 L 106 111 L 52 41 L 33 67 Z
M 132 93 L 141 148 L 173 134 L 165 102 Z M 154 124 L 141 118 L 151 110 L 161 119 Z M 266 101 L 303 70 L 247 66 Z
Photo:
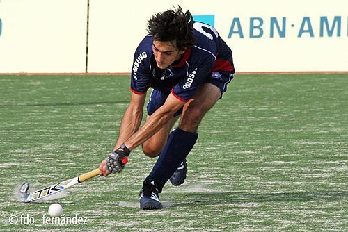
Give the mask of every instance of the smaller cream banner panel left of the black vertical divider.
M 0 73 L 85 72 L 86 0 L 1 0 Z

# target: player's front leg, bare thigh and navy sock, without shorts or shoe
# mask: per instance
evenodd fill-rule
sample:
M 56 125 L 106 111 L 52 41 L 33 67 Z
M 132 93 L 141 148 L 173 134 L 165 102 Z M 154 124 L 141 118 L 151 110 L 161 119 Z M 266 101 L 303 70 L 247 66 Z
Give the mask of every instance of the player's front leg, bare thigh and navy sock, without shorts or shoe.
M 211 83 L 205 83 L 185 104 L 179 127 L 169 135 L 168 142 L 147 178 L 155 180 L 159 192 L 196 144 L 198 138 L 196 131 L 200 121 L 220 97 L 219 88 Z

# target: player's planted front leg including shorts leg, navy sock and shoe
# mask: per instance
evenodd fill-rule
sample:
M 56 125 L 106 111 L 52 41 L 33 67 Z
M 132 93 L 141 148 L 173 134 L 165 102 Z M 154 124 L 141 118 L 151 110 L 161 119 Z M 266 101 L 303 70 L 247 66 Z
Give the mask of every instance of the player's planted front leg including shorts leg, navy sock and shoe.
M 205 113 L 221 98 L 231 79 L 232 72 L 212 74 L 197 90 L 191 101 L 185 104 L 183 110 L 185 112 L 182 114 L 180 126 L 169 135 L 168 142 L 161 151 L 155 167 L 143 183 L 143 190 L 150 189 L 153 193 L 153 199 L 140 197 L 141 208 L 161 208 L 158 193 L 162 191 L 166 181 L 177 170 L 182 160 L 187 157 L 194 144 L 196 144 L 198 138 L 196 131 L 201 120 Z M 154 202 L 155 204 L 152 204 Z M 150 203 L 151 206 L 145 206 L 147 203 Z

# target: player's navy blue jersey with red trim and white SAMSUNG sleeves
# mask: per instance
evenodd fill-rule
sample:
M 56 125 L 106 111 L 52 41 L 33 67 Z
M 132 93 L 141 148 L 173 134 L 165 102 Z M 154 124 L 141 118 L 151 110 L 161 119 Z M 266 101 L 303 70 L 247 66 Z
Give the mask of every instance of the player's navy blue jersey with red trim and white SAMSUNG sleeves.
M 196 44 L 180 60 L 166 69 L 157 67 L 152 51 L 152 35 L 147 35 L 134 54 L 131 90 L 145 94 L 148 88 L 172 92 L 177 99 L 189 101 L 210 73 L 235 72 L 232 51 L 219 33 L 207 24 L 193 22 Z

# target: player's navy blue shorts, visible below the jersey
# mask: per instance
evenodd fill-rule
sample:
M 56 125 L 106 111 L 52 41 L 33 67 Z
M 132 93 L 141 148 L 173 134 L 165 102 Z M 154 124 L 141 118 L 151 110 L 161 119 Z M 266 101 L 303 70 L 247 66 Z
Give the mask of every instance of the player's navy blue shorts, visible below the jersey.
M 221 90 L 221 97 L 222 97 L 222 94 L 226 92 L 227 85 L 228 83 L 230 83 L 232 78 L 233 78 L 232 72 L 225 72 L 225 71 L 212 72 L 205 79 L 204 83 L 211 83 L 215 85 L 216 87 L 218 87 Z M 169 94 L 170 93 L 164 93 L 161 90 L 152 90 L 151 96 L 148 102 L 148 106 L 147 106 L 148 115 L 152 115 L 152 113 L 154 113 L 159 107 L 163 106 Z M 175 113 L 173 117 L 177 115 L 181 115 L 181 113 L 182 113 L 182 108 L 180 108 L 180 110 L 177 110 L 177 113 Z

